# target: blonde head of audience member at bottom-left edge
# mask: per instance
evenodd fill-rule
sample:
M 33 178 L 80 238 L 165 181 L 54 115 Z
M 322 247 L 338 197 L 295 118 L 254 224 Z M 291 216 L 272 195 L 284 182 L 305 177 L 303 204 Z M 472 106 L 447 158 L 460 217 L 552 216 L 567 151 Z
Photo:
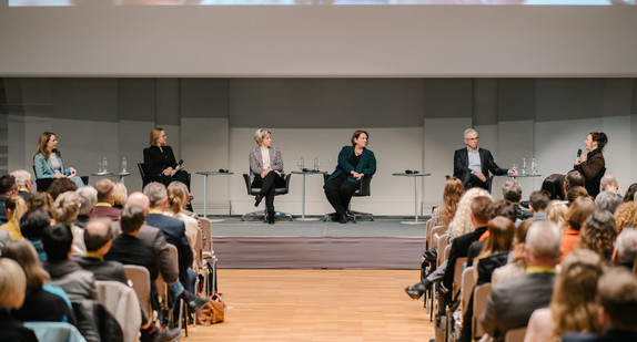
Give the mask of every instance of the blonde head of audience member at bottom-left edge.
M 20 309 L 24 302 L 27 277 L 18 262 L 0 259 L 0 308 Z

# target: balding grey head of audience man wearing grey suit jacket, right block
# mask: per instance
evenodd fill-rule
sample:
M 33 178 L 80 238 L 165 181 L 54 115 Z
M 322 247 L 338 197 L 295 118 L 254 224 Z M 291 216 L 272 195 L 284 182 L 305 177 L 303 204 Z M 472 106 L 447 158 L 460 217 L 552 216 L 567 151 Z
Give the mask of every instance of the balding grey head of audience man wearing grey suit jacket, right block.
M 525 259 L 527 266 L 555 266 L 560 255 L 562 232 L 549 221 L 535 221 L 526 232 Z

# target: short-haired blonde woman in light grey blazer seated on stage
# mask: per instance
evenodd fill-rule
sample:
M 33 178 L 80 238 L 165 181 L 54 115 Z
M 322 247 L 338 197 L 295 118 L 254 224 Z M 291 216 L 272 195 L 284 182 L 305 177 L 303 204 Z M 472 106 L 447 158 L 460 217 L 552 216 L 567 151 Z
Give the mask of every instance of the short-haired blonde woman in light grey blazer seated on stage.
M 255 196 L 254 206 L 257 207 L 265 198 L 267 224 L 274 225 L 274 189 L 285 186 L 283 174 L 283 157 L 281 151 L 272 147 L 272 132 L 259 128 L 254 133 L 254 141 L 259 147 L 250 152 L 250 180 L 252 187 L 261 188 Z

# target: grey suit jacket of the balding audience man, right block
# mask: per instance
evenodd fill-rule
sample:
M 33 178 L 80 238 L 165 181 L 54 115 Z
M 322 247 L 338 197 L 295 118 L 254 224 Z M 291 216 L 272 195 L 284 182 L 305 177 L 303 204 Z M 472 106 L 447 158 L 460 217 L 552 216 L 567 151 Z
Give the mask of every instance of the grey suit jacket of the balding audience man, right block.
M 548 307 L 555 273 L 529 273 L 512 278 L 493 288 L 481 319 L 494 341 L 504 341 L 508 330 L 524 328 L 533 311 Z

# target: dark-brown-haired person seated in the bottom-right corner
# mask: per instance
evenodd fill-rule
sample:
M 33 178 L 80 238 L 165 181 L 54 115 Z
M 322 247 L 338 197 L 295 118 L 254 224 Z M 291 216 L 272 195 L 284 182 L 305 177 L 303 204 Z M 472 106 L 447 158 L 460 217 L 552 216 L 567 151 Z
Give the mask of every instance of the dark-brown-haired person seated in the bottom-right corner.
M 606 272 L 597 283 L 601 335 L 564 335 L 565 342 L 637 341 L 637 278 L 623 268 Z

